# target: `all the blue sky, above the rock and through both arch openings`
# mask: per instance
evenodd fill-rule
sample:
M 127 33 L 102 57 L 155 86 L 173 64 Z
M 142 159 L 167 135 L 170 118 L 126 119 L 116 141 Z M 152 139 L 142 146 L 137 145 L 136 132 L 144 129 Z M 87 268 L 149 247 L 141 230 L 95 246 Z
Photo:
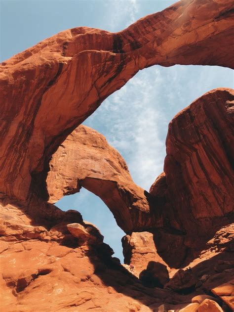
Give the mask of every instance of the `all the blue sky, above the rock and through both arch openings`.
M 89 26 L 116 32 L 173 4 L 169 0 L 1 0 L 0 60 L 68 28 Z M 234 88 L 231 69 L 217 66 L 153 66 L 109 96 L 84 124 L 104 134 L 127 162 L 134 181 L 149 190 L 163 171 L 168 123 L 210 89 Z M 81 189 L 57 206 L 77 209 L 96 224 L 122 261 L 114 217 L 95 195 Z

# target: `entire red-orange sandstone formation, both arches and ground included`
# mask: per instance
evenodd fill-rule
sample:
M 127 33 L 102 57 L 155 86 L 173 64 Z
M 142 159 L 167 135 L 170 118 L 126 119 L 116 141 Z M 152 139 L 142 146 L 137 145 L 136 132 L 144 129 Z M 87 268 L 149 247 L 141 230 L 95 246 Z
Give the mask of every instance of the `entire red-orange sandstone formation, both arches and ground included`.
M 145 67 L 234 68 L 233 10 L 179 1 L 119 33 L 74 28 L 1 64 L 2 311 L 233 309 L 233 90 L 210 91 L 172 120 L 150 193 L 101 134 L 79 126 Z M 125 267 L 93 224 L 53 205 L 82 186 L 125 230 Z

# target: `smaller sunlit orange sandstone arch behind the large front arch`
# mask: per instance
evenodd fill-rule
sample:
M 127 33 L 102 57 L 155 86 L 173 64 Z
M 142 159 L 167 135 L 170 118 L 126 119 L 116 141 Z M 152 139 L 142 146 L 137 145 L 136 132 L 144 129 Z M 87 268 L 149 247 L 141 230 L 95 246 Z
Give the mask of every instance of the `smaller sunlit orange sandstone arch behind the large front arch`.
M 124 159 L 97 131 L 80 125 L 59 146 L 49 166 L 51 203 L 83 186 L 104 201 L 125 232 L 150 226 L 148 192 L 133 182 Z

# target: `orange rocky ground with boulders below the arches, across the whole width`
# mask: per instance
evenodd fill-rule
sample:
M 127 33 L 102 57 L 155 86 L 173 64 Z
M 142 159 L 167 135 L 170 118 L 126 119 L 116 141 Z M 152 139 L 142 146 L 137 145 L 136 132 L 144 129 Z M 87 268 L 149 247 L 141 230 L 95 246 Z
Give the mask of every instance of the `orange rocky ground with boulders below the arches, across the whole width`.
M 70 213 L 79 223 L 48 229 L 32 225 L 24 207 L 1 203 L 1 311 L 232 311 L 233 224 L 175 269 L 149 232 L 132 233 L 130 263 L 121 265 L 99 230 Z

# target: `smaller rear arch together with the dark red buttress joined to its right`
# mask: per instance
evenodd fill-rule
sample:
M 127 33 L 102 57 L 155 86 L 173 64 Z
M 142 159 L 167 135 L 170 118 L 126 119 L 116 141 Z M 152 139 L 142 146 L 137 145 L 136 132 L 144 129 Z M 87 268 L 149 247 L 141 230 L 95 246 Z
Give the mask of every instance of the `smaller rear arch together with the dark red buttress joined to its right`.
M 233 218 L 233 99 L 231 89 L 215 89 L 172 120 L 166 174 L 156 179 L 152 196 L 132 181 L 124 160 L 101 134 L 79 126 L 50 161 L 50 201 L 84 186 L 103 199 L 126 233 L 153 232 L 154 238 L 147 235 L 157 252 L 169 266 L 179 267 L 192 259 L 191 250 L 199 252 L 217 228 Z M 145 237 L 145 232 L 139 235 Z

